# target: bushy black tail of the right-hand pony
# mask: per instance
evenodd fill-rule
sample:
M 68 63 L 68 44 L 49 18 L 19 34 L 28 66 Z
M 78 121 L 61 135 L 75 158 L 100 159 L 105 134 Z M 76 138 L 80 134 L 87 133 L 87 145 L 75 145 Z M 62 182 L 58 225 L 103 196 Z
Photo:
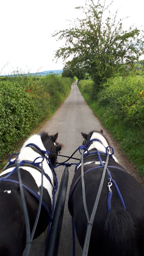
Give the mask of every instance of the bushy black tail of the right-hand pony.
M 138 256 L 135 233 L 133 219 L 126 210 L 111 210 L 105 221 L 105 255 Z

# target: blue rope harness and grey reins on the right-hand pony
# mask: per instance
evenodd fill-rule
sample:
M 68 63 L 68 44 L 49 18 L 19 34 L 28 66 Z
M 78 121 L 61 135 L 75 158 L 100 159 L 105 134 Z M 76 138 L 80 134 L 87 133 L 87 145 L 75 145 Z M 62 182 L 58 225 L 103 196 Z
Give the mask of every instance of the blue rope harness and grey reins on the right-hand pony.
M 109 157 L 113 158 L 113 154 L 114 154 L 114 150 L 112 147 L 108 146 L 105 148 L 105 153 L 103 152 L 98 152 L 98 150 L 94 151 L 92 150 L 92 152 L 89 152 L 88 150 L 88 146 L 93 142 L 93 141 L 99 141 L 101 143 L 100 140 L 98 139 L 92 139 L 89 141 L 89 143 L 87 143 L 87 145 L 83 145 L 83 146 L 80 146 L 79 147 L 79 153 L 81 154 L 81 175 L 77 178 L 76 182 L 74 183 L 74 185 L 72 186 L 72 189 L 69 193 L 69 198 L 68 198 L 68 208 L 70 210 L 70 200 L 72 198 L 72 195 L 74 193 L 74 190 L 78 184 L 78 182 L 80 181 L 81 179 L 81 182 L 82 182 L 82 195 L 83 195 L 83 205 L 84 205 L 84 209 L 85 209 L 85 214 L 87 216 L 87 221 L 88 221 L 88 224 L 87 224 L 87 232 L 86 232 L 86 236 L 85 236 L 85 242 L 84 242 L 84 246 L 83 246 L 83 254 L 82 256 L 87 256 L 88 254 L 88 250 L 89 250 L 89 242 L 90 242 L 90 235 L 91 235 L 91 231 L 92 231 L 92 225 L 93 225 L 93 221 L 94 221 L 94 216 L 96 214 L 96 210 L 97 210 L 97 206 L 98 206 L 98 202 L 99 202 L 99 199 L 100 199 L 100 194 L 101 194 L 101 191 L 102 191 L 102 187 L 103 187 L 103 182 L 104 182 L 104 178 L 105 178 L 105 172 L 107 171 L 107 174 L 109 176 L 108 178 L 108 196 L 107 196 L 107 211 L 108 213 L 111 211 L 111 197 L 112 197 L 112 191 L 111 191 L 111 186 L 112 186 L 112 182 L 116 188 L 116 191 L 118 192 L 118 195 L 120 197 L 120 200 L 122 202 L 122 205 L 124 207 L 124 209 L 126 210 L 126 206 L 124 204 L 124 200 L 122 198 L 122 195 L 118 189 L 118 186 L 116 184 L 116 182 L 113 180 L 112 176 L 111 176 L 111 173 L 109 171 L 109 168 L 115 168 L 115 169 L 120 169 L 119 167 L 115 167 L 115 166 L 111 166 L 111 165 L 108 165 L 108 161 L 109 161 Z M 111 148 L 112 149 L 112 153 L 109 154 L 109 149 L 108 148 Z M 85 150 L 86 153 L 83 153 L 81 150 Z M 90 155 L 97 155 L 98 156 L 98 160 L 100 161 L 100 166 L 96 166 L 96 167 L 93 167 L 93 168 L 90 168 L 89 170 L 85 171 L 85 173 L 83 172 L 83 158 L 89 158 Z M 101 158 L 101 155 L 105 155 L 107 158 L 106 158 L 106 161 L 105 161 L 105 164 L 103 164 L 103 161 L 102 161 L 102 158 Z M 75 172 L 78 170 L 78 167 L 79 165 L 77 166 L 77 168 L 75 169 Z M 103 174 L 102 174 L 102 179 L 101 179 L 101 182 L 100 182 L 100 187 L 98 189 L 98 194 L 96 196 L 96 200 L 95 200 L 95 203 L 94 203 L 94 207 L 93 207 L 93 210 L 92 210 L 92 214 L 91 216 L 89 217 L 89 213 L 88 213 L 88 210 L 87 210 L 87 203 L 86 203 L 86 198 L 85 198 L 85 182 L 84 182 L 84 175 L 86 175 L 87 173 L 89 173 L 90 171 L 93 171 L 93 170 L 96 170 L 96 169 L 103 169 Z M 75 255 L 75 244 L 74 244 L 74 219 L 73 219 L 73 213 L 71 213 L 72 215 L 72 232 L 73 232 L 73 256 Z

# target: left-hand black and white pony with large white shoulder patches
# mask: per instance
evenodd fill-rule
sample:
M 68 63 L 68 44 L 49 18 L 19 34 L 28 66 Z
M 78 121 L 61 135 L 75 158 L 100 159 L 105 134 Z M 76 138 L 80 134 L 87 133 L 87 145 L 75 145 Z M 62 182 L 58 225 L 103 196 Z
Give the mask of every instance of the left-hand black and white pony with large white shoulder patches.
M 58 133 L 49 136 L 47 133 L 32 135 L 22 146 L 18 154 L 18 165 L 24 197 L 28 210 L 30 231 L 32 231 L 39 206 L 41 189 L 41 161 L 43 159 L 43 195 L 39 221 L 33 238 L 38 237 L 50 221 L 53 204 L 55 175 L 48 158 L 54 166 L 57 159 Z M 47 155 L 47 151 L 55 155 Z M 36 159 L 37 158 L 37 159 Z M 26 246 L 26 223 L 20 195 L 15 159 L 0 174 L 0 256 L 21 256 Z M 16 169 L 16 171 L 13 171 Z M 32 191 L 32 192 L 31 192 Z

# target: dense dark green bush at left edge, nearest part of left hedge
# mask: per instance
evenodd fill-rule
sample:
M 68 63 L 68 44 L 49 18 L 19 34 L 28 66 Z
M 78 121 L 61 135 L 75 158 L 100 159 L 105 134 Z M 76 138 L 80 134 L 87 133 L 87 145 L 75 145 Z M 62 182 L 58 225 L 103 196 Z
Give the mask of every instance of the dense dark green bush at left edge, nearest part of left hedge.
M 38 91 L 41 96 L 40 92 L 33 93 L 31 88 L 23 88 L 17 82 L 0 82 L 0 159 L 48 112 L 49 95 L 42 88 Z

